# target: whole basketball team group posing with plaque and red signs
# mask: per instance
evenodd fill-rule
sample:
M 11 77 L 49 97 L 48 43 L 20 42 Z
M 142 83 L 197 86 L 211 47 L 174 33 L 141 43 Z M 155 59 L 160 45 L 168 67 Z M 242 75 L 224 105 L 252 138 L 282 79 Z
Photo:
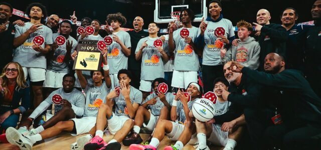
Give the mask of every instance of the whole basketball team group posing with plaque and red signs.
M 13 7 L 0 2 L 1 143 L 32 149 L 67 131 L 82 134 L 70 149 L 157 149 L 165 136 L 175 141 L 166 150 L 321 149 L 321 0 L 314 25 L 296 24 L 292 7 L 281 24 L 259 9 L 257 22 L 237 22 L 237 38 L 221 1 L 207 7 L 198 27 L 185 8 L 159 36 L 140 16 L 129 31 L 119 12 L 78 27 L 75 11 L 47 18 L 41 3 L 27 6 L 30 21 L 9 21 Z M 88 40 L 100 57 L 78 49 Z M 75 69 L 77 58 L 101 69 Z

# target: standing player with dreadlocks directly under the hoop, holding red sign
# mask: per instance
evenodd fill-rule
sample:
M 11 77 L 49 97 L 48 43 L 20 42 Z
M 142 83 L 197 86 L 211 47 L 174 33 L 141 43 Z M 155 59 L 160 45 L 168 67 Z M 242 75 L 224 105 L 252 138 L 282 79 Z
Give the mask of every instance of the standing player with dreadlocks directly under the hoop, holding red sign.
M 180 14 L 183 27 L 175 30 L 176 23 L 169 27 L 169 50 L 176 54 L 172 78 L 172 86 L 176 88 L 187 89 L 190 82 L 198 81 L 197 71 L 200 64 L 194 41 L 199 34 L 199 29 L 192 26 L 194 18 L 192 9 L 183 9 Z M 189 32 L 189 34 L 185 37 L 181 32 Z

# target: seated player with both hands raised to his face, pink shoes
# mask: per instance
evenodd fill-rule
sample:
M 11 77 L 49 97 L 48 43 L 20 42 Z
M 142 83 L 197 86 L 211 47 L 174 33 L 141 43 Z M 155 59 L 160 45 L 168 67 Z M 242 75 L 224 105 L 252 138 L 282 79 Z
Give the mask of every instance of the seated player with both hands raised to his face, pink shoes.
M 106 104 L 103 103 L 97 114 L 96 136 L 84 146 L 84 149 L 120 149 L 121 142 L 133 127 L 131 118 L 135 116 L 142 93 L 129 85 L 131 73 L 126 69 L 118 71 L 120 87 L 112 89 L 106 97 Z M 119 92 L 117 91 L 119 90 Z M 112 107 L 115 104 L 115 112 Z M 103 130 L 108 125 L 108 130 L 114 137 L 106 144 L 102 139 Z M 79 144 L 79 143 L 78 143 Z

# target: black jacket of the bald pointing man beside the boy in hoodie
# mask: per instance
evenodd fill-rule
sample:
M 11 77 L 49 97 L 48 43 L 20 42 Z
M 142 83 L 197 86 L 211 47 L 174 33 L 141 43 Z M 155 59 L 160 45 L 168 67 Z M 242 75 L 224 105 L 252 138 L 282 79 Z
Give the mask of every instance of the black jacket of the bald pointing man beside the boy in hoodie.
M 260 43 L 260 67 L 263 70 L 264 58 L 270 52 L 277 52 L 285 55 L 287 33 L 280 24 L 266 24 L 261 28 L 259 36 L 255 37 Z

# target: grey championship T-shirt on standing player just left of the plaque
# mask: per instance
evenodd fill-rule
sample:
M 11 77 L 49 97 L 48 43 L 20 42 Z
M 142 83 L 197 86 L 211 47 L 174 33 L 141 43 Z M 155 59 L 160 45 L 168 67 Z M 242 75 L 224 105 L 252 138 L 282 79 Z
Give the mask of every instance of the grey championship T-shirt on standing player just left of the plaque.
M 59 36 L 60 33 L 54 33 L 53 34 L 53 41 L 55 41 L 56 37 Z M 54 71 L 54 72 L 59 72 L 59 73 L 68 73 L 69 69 L 67 66 L 67 63 L 64 62 L 64 58 L 66 56 L 67 50 L 67 42 L 72 41 L 72 48 L 71 48 L 71 53 L 74 52 L 76 46 L 77 46 L 77 40 L 69 35 L 68 39 L 66 39 L 66 42 L 63 45 L 59 45 L 58 48 L 55 50 L 54 56 L 50 60 L 50 64 L 48 65 L 47 69 Z

